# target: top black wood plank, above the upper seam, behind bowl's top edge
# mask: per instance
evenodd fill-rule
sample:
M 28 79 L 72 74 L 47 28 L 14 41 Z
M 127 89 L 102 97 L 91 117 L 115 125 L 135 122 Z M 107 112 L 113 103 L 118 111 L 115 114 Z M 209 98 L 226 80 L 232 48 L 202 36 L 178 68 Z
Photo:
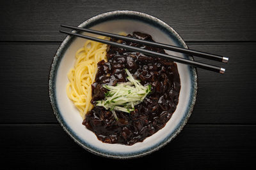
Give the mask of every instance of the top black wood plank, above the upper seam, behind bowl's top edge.
M 141 8 L 142 6 L 142 8 Z M 255 1 L 4 1 L 0 41 L 62 41 L 60 24 L 79 25 L 113 10 L 134 10 L 171 25 L 186 41 L 255 41 Z

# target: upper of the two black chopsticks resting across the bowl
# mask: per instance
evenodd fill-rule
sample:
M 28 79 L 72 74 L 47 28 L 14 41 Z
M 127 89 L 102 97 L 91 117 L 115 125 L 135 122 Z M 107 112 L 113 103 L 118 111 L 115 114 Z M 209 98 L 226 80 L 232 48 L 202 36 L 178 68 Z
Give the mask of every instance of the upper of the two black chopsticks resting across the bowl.
M 92 29 L 84 29 L 84 28 L 80 28 L 80 27 L 74 27 L 71 25 L 61 25 L 61 27 L 66 27 L 66 28 L 84 31 L 84 32 L 90 32 L 93 34 L 98 34 L 101 36 L 108 36 L 108 37 L 116 38 L 116 39 L 122 39 L 125 41 L 132 41 L 132 42 L 136 42 L 136 43 L 140 43 L 140 44 L 144 44 L 144 45 L 155 46 L 155 47 L 163 48 L 166 50 L 172 50 L 173 52 L 180 52 L 180 53 L 186 53 L 189 55 L 195 55 L 197 57 L 203 57 L 205 59 L 217 60 L 217 61 L 225 62 L 225 63 L 228 62 L 228 57 L 223 57 L 223 56 L 215 55 L 215 54 L 211 54 L 211 53 L 199 52 L 196 50 L 189 50 L 187 48 L 180 48 L 178 46 L 166 45 L 163 43 L 156 43 L 156 42 L 152 42 L 152 41 L 145 41 L 143 39 L 130 38 L 127 36 L 120 36 L 118 34 L 111 34 L 109 32 L 95 31 Z

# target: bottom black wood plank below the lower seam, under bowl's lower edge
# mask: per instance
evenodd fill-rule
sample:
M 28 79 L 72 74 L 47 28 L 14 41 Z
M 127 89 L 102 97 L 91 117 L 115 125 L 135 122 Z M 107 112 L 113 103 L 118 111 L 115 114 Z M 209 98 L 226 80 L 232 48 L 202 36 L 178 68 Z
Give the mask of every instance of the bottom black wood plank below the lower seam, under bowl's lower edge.
M 255 133 L 254 125 L 187 125 L 161 150 L 117 161 L 83 150 L 59 125 L 1 125 L 0 158 L 10 169 L 150 169 L 153 164 L 159 169 L 237 169 L 253 165 Z M 92 163 L 95 160 L 99 164 Z

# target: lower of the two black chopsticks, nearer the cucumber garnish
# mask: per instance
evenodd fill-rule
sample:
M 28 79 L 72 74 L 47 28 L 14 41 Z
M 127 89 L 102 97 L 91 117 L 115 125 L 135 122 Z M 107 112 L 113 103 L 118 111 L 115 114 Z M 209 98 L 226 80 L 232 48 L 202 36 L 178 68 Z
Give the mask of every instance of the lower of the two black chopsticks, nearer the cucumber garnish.
M 176 56 L 173 56 L 173 55 L 166 55 L 164 53 L 152 52 L 152 51 L 145 50 L 145 49 L 142 49 L 142 48 L 137 48 L 135 46 L 129 46 L 129 45 L 124 45 L 124 44 L 120 44 L 120 43 L 115 43 L 113 41 L 108 41 L 106 39 L 99 39 L 99 38 L 94 38 L 94 37 L 91 37 L 91 36 L 84 36 L 82 34 L 76 34 L 76 33 L 67 32 L 67 31 L 60 31 L 60 32 L 68 34 L 68 35 L 78 36 L 78 37 L 85 38 L 85 39 L 90 39 L 92 41 L 97 41 L 97 42 L 104 43 L 104 44 L 107 44 L 107 45 L 113 45 L 113 46 L 125 48 L 127 50 L 131 50 L 132 52 L 140 52 L 140 53 L 144 53 L 144 54 L 151 55 L 151 56 L 162 57 L 164 59 L 171 59 L 175 62 L 179 62 L 179 63 L 182 63 L 182 64 L 188 64 L 190 66 L 200 67 L 202 69 L 207 69 L 209 71 L 215 71 L 215 72 L 221 73 L 221 74 L 225 73 L 225 68 L 223 68 L 223 67 L 212 66 L 212 65 L 205 64 L 205 63 L 202 63 L 202 62 L 196 62 L 194 60 L 183 59 L 181 57 L 176 57 Z

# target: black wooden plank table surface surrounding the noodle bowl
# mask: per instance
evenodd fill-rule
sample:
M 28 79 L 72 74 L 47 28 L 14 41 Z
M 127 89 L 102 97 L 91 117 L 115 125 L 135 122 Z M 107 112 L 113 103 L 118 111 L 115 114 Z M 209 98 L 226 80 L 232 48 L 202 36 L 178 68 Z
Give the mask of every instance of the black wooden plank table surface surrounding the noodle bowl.
M 254 1 L 223 0 L 1 1 L 1 167 L 252 166 L 256 152 L 255 8 Z M 153 15 L 179 32 L 189 48 L 230 57 L 227 65 L 220 64 L 226 67 L 225 74 L 198 69 L 198 97 L 188 124 L 171 143 L 140 159 L 106 159 L 83 150 L 61 129 L 49 103 L 49 67 L 65 38 L 58 32 L 60 24 L 79 25 L 113 10 Z

